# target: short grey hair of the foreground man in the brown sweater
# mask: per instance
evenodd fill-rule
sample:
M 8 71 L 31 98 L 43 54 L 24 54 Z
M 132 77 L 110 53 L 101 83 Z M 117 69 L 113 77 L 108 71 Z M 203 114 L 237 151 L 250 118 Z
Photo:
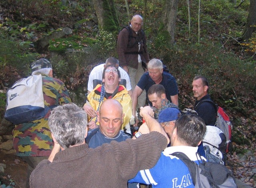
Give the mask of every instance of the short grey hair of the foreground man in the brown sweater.
M 64 149 L 83 143 L 87 114 L 76 104 L 70 103 L 54 108 L 48 123 L 54 138 Z

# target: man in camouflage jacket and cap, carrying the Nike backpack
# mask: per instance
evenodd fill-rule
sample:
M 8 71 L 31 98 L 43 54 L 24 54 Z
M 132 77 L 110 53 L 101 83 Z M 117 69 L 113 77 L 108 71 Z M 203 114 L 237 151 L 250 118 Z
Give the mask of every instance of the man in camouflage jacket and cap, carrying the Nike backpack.
M 47 59 L 39 59 L 32 63 L 32 75 L 41 74 L 43 82 L 44 104 L 50 109 L 71 102 L 64 83 L 52 78 L 52 65 Z M 36 165 L 48 159 L 53 147 L 51 132 L 48 126 L 50 111 L 44 118 L 16 125 L 13 134 L 13 147 L 16 155 L 28 163 L 26 187 Z

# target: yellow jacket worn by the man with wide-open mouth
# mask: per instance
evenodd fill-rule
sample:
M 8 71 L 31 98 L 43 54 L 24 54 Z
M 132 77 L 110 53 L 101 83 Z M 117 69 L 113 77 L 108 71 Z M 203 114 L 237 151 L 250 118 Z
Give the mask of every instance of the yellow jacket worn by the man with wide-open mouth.
M 100 102 L 100 90 L 102 85 L 98 84 L 90 94 L 87 96 L 87 100 L 90 102 L 90 105 L 94 110 L 98 110 L 99 102 Z M 104 100 L 107 100 L 107 96 L 104 96 Z M 130 119 L 132 118 L 132 98 L 128 94 L 126 88 L 122 85 L 119 85 L 119 88 L 112 94 L 112 96 L 108 98 L 116 99 L 123 107 L 124 115 L 124 123 L 122 124 L 122 129 L 130 123 Z M 103 101 L 102 101 L 103 102 Z M 102 104 L 100 103 L 100 105 Z M 96 118 L 93 118 L 92 121 L 95 121 Z M 96 122 L 99 125 L 98 122 Z

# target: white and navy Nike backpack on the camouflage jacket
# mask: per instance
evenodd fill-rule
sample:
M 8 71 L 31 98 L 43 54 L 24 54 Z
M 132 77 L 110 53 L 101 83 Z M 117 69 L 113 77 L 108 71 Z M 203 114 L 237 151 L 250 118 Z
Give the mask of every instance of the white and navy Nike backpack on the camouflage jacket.
M 7 90 L 4 118 L 15 125 L 43 118 L 50 110 L 44 105 L 42 75 L 22 78 Z

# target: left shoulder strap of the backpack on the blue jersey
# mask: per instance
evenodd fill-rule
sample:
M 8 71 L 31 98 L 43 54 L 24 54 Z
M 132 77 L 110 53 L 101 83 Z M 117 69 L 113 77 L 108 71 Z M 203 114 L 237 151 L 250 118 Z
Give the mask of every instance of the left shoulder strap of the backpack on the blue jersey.
M 170 155 L 178 157 L 183 163 L 185 163 L 192 177 L 193 184 L 196 185 L 196 163 L 191 161 L 188 156 L 182 152 L 174 152 Z

